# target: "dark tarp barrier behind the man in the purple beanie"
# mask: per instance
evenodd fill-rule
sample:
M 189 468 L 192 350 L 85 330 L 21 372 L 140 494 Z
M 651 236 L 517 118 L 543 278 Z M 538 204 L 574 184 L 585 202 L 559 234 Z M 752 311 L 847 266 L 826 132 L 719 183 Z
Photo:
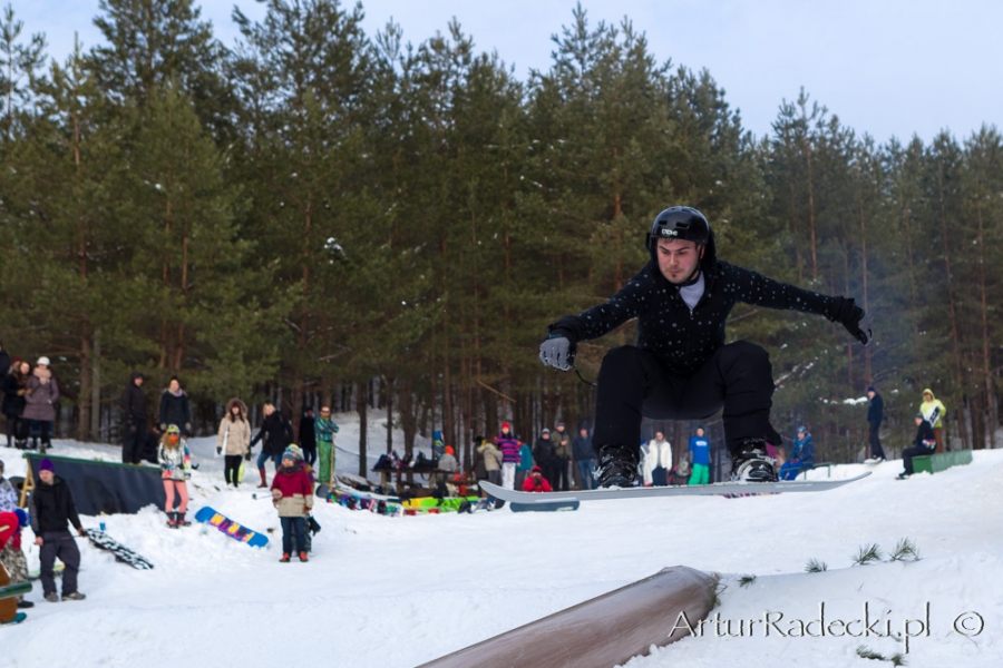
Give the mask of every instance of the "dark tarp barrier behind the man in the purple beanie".
M 163 509 L 167 501 L 159 468 L 27 452 L 36 485 L 41 482 L 38 465 L 46 456 L 52 460 L 56 477 L 72 490 L 80 514 L 133 513 L 150 503 Z

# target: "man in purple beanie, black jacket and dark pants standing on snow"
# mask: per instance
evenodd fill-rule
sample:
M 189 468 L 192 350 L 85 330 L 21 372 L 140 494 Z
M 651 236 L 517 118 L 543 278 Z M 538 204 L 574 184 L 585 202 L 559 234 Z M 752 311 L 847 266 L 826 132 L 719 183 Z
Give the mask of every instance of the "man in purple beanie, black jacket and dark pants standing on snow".
M 52 566 L 58 557 L 66 569 L 62 571 L 62 600 L 82 601 L 86 597 L 77 590 L 77 572 L 80 570 L 80 550 L 72 534 L 67 531 L 69 522 L 80 536 L 87 536 L 77 517 L 77 504 L 74 493 L 59 478 L 49 458 L 38 465 L 39 483 L 28 499 L 28 511 L 31 515 L 31 530 L 35 531 L 35 544 L 39 546 L 41 561 L 41 581 L 46 600 L 55 603 L 56 579 Z

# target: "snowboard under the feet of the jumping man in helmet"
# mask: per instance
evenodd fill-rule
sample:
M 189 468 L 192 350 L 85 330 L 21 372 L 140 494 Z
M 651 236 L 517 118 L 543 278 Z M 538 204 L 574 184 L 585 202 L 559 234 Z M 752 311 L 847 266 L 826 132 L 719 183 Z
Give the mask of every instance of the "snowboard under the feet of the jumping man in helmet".
M 658 497 L 715 497 L 770 492 L 825 492 L 870 475 L 870 471 L 843 480 L 785 480 L 780 482 L 715 482 L 713 484 L 663 488 L 613 488 L 575 492 L 517 492 L 480 481 L 480 489 L 496 499 L 514 503 L 551 503 L 562 500 L 598 501 L 605 499 L 654 499 Z

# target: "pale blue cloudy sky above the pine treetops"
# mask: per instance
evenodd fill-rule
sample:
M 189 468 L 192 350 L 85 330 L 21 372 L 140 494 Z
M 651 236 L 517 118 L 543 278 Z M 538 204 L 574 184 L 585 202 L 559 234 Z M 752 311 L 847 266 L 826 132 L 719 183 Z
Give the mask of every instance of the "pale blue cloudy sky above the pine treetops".
M 12 0 L 26 32 L 45 32 L 62 60 L 74 32 L 100 41 L 98 0 Z M 234 4 L 249 17 L 254 0 L 203 0 L 203 17 L 232 46 Z M 858 132 L 879 141 L 941 129 L 964 139 L 983 124 L 1003 127 L 1003 2 L 999 0 L 583 0 L 591 22 L 630 17 L 664 62 L 707 68 L 757 136 L 783 99 L 801 87 Z M 551 36 L 572 21 L 565 0 L 368 0 L 366 30 L 392 17 L 419 43 L 446 32 L 456 17 L 479 50 L 496 51 L 525 79 L 551 63 Z

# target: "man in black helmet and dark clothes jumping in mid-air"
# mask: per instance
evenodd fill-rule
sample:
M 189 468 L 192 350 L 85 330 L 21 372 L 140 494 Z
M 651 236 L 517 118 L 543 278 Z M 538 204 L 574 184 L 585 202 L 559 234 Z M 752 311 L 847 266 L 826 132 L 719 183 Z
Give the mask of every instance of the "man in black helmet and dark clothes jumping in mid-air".
M 703 420 L 723 409 L 736 480 L 777 480 L 770 455 L 781 444 L 770 425 L 773 377 L 769 354 L 748 341 L 724 344 L 724 324 L 739 302 L 824 315 L 860 343 L 871 340 L 864 310 L 719 261 L 714 233 L 694 208 L 658 215 L 647 235 L 651 261 L 605 304 L 565 315 L 539 346 L 545 365 L 574 367 L 578 342 L 637 318 L 637 344 L 606 353 L 600 369 L 593 443 L 598 487 L 639 479 L 642 416 Z

